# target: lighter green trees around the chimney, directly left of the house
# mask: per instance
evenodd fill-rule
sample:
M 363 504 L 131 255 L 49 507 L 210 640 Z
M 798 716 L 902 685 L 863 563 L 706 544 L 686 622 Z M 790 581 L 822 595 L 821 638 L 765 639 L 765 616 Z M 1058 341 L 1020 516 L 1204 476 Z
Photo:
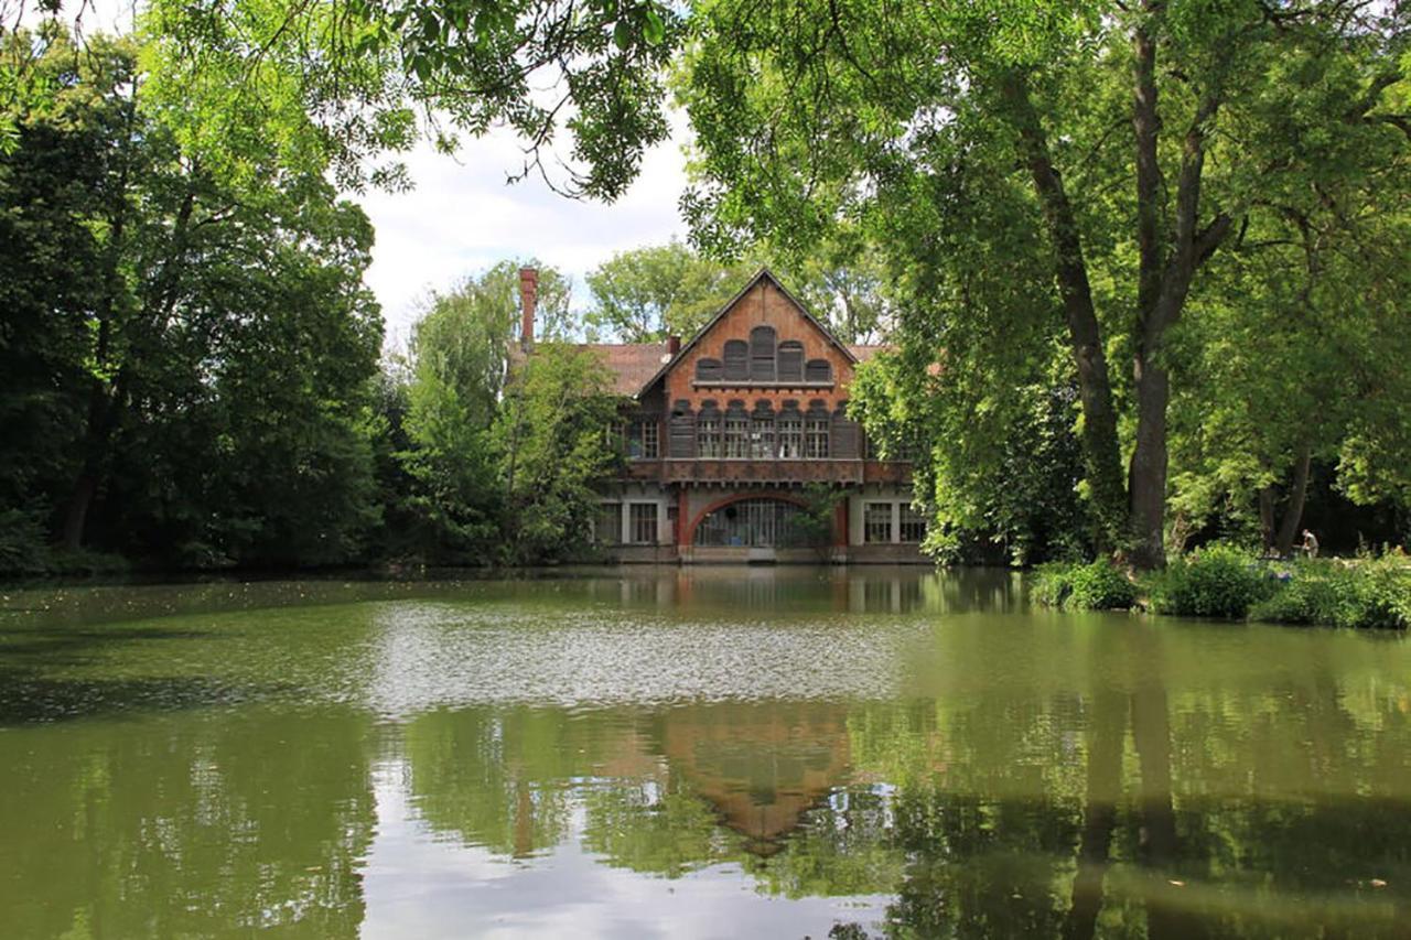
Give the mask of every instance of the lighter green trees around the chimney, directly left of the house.
M 519 353 L 519 264 L 436 294 L 405 360 L 382 378 L 381 555 L 452 565 L 533 563 L 587 552 L 593 490 L 619 454 L 617 399 L 581 349 Z M 540 268 L 540 333 L 566 330 L 567 289 Z

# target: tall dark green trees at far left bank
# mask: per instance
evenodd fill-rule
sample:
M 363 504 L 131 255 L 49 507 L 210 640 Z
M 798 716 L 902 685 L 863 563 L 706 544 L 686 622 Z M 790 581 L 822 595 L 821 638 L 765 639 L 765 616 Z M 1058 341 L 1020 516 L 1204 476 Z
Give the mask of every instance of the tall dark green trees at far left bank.
M 350 558 L 377 522 L 367 219 L 317 172 L 209 172 L 140 107 L 128 41 L 32 68 L 56 90 L 0 157 L 14 567 L 44 563 L 41 531 L 165 565 Z

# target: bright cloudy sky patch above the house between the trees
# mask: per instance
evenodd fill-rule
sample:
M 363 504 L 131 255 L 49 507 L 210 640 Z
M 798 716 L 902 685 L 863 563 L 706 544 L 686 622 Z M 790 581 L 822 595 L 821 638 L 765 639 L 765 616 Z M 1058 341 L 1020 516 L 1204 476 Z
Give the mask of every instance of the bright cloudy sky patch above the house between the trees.
M 574 301 L 587 299 L 583 275 L 614 253 L 684 239 L 677 199 L 686 183 L 677 126 L 672 141 L 648 152 L 641 178 L 618 202 L 576 202 L 540 179 L 509 185 L 523 162 L 507 133 L 466 141 L 456 157 L 423 145 L 408 155 L 416 188 L 406 193 L 356 196 L 377 229 L 367 284 L 382 303 L 388 343 L 399 346 L 428 288 L 446 288 L 501 258 L 531 258 L 574 281 Z

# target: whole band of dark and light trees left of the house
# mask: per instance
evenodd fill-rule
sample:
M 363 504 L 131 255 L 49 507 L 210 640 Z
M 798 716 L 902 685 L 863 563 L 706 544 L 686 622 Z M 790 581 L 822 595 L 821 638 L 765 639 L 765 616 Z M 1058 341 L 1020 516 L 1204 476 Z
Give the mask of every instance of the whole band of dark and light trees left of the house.
M 552 344 L 505 394 L 518 264 L 433 295 L 380 374 L 373 231 L 316 161 L 255 135 L 251 172 L 212 168 L 134 41 L 35 44 L 54 92 L 0 155 L 0 573 L 583 549 L 615 404 Z M 538 319 L 573 329 L 553 270 Z

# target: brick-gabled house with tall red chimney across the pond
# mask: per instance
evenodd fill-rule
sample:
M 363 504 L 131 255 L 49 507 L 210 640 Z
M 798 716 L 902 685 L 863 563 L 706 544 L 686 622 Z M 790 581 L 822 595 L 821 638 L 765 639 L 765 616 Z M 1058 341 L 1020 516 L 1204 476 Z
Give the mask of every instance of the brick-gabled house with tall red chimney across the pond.
M 521 271 L 526 349 L 536 278 Z M 587 349 L 631 399 L 629 470 L 595 526 L 622 560 L 923 560 L 910 464 L 871 457 L 847 416 L 878 347 L 840 343 L 768 270 L 684 344 Z M 804 522 L 810 483 L 845 494 L 831 534 Z

